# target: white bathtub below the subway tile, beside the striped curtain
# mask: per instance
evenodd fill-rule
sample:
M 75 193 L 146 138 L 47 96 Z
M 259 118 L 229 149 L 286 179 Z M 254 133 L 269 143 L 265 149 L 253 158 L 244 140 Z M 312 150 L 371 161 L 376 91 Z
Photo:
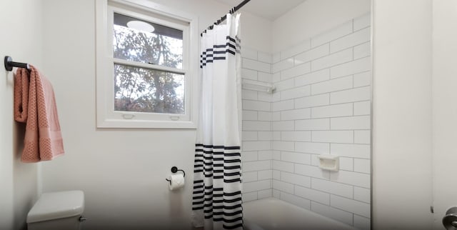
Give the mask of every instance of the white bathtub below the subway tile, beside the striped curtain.
M 354 230 L 353 227 L 275 198 L 243 203 L 246 230 Z

